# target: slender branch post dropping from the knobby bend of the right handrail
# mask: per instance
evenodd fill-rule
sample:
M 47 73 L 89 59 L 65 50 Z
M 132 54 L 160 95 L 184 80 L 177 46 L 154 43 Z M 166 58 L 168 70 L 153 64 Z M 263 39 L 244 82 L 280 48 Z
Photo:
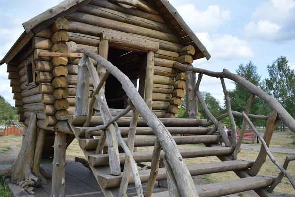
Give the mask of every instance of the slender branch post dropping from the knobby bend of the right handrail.
M 230 122 L 231 122 L 231 127 L 232 127 L 232 133 L 233 133 L 232 146 L 235 147 L 236 146 L 236 123 L 235 123 L 235 119 L 234 119 L 234 116 L 233 116 L 233 113 L 232 113 L 231 101 L 230 101 L 230 98 L 229 98 L 229 94 L 228 94 L 228 92 L 226 90 L 224 79 L 220 78 L 220 81 L 221 81 L 221 85 L 222 85 L 222 89 L 223 89 L 223 93 L 224 93 L 226 109 L 227 109 L 229 119 L 230 119 Z M 233 157 L 233 159 L 236 160 L 237 158 Z

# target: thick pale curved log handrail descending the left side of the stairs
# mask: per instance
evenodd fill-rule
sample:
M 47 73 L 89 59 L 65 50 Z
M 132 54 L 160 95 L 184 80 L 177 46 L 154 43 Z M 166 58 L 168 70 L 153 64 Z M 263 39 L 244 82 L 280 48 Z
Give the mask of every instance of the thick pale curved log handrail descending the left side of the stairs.
M 198 197 L 193 179 L 170 132 L 156 117 L 156 115 L 152 113 L 152 111 L 148 108 L 147 104 L 139 95 L 138 91 L 136 90 L 130 79 L 125 74 L 123 74 L 116 66 L 112 65 L 103 57 L 87 49 L 82 49 L 82 53 L 97 61 L 98 64 L 106 68 L 106 70 L 108 70 L 122 84 L 123 89 L 125 90 L 127 96 L 130 98 L 134 107 L 138 110 L 141 117 L 147 122 L 148 126 L 155 132 L 155 135 L 157 136 L 161 147 L 163 148 L 163 151 L 167 157 L 167 162 L 173 169 L 174 176 L 177 178 L 176 182 L 180 193 L 186 197 Z M 119 129 L 116 122 L 114 123 L 114 126 L 116 128 L 115 131 L 118 136 L 118 134 L 120 133 L 118 133 Z

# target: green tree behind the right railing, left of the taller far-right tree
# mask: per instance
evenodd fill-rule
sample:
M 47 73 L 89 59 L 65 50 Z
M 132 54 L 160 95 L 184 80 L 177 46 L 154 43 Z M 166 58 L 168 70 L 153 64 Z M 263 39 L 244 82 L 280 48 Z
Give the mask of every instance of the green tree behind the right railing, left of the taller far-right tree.
M 252 61 L 246 65 L 240 64 L 236 70 L 236 73 L 254 85 L 264 89 L 264 82 L 261 81 L 261 76 L 257 73 L 257 66 L 255 66 Z M 244 111 L 251 93 L 237 83 L 235 83 L 235 89 L 228 91 L 228 93 L 231 99 L 232 110 L 238 112 Z M 261 99 L 255 98 L 252 103 L 250 113 L 257 115 L 267 115 L 269 114 L 269 107 Z M 235 120 L 238 125 L 241 125 L 243 118 L 235 117 Z M 255 124 L 261 124 L 261 121 L 259 120 L 255 120 L 254 122 Z

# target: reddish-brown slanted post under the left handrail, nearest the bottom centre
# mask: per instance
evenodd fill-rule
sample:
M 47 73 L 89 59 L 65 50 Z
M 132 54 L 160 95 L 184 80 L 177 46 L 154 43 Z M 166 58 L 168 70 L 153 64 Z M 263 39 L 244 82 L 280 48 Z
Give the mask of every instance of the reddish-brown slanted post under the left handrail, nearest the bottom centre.
M 152 156 L 152 160 L 151 160 L 151 169 L 150 169 L 150 175 L 149 175 L 149 179 L 148 179 L 148 186 L 146 189 L 145 197 L 151 197 L 153 189 L 155 187 L 157 175 L 159 172 L 161 144 L 158 141 L 156 141 L 156 143 L 155 143 L 152 155 L 153 156 Z

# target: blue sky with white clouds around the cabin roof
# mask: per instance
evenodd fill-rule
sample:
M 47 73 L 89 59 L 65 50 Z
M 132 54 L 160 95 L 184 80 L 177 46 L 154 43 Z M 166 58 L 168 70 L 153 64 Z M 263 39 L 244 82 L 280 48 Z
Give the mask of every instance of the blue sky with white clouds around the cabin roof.
M 0 59 L 24 31 L 22 23 L 62 0 L 0 0 Z M 170 0 L 211 54 L 195 67 L 235 72 L 250 60 L 262 78 L 267 65 L 286 56 L 295 69 L 295 0 Z M 0 66 L 0 95 L 14 106 L 6 64 Z M 227 89 L 234 84 L 226 80 Z M 223 103 L 220 79 L 203 76 L 200 89 Z

